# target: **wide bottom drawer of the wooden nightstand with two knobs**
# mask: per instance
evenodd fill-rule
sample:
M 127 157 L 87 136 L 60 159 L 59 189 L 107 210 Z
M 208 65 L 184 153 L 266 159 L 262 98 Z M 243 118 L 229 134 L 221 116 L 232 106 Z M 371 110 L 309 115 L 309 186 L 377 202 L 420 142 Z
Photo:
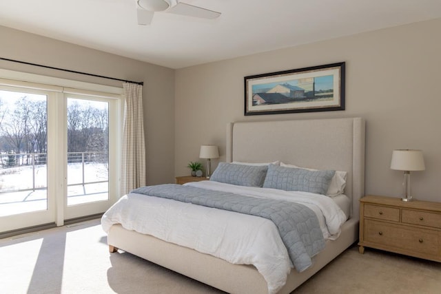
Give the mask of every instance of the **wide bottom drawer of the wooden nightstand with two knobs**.
M 364 239 L 383 246 L 438 255 L 438 232 L 413 230 L 400 225 L 365 220 Z

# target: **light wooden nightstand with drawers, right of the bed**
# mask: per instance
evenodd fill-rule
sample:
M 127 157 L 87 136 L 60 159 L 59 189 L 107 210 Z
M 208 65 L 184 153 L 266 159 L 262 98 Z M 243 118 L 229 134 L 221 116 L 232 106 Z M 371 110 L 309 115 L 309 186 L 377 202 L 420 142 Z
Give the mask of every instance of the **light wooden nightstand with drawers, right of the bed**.
M 358 245 L 441 262 L 441 203 L 361 198 Z

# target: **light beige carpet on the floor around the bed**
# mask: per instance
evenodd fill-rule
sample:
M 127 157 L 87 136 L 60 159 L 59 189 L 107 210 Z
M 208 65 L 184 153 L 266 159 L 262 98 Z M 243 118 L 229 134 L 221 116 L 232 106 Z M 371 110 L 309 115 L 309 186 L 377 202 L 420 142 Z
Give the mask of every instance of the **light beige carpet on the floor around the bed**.
M 99 220 L 0 240 L 0 293 L 223 293 L 129 253 L 108 253 Z M 303 293 L 441 293 L 441 264 L 353 246 Z

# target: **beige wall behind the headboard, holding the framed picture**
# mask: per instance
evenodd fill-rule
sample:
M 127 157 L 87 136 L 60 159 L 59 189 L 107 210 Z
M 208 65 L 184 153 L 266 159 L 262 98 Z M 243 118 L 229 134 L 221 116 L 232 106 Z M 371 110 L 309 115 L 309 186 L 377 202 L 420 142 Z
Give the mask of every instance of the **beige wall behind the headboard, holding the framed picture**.
M 441 19 L 176 70 L 175 175 L 187 175 L 201 144 L 225 160 L 225 129 L 236 120 L 361 116 L 367 120 L 366 193 L 399 196 L 393 149 L 422 149 L 425 171 L 412 173 L 413 195 L 441 201 Z M 346 110 L 243 115 L 243 77 L 346 61 Z M 214 161 L 216 165 L 218 160 Z M 293 162 L 295 163 L 295 162 Z

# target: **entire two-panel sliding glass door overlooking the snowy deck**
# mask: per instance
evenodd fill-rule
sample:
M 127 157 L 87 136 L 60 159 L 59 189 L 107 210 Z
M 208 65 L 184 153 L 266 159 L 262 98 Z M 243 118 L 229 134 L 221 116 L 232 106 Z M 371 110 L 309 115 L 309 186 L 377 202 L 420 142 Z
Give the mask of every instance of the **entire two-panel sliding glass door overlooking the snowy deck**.
M 116 201 L 117 97 L 0 85 L 0 233 L 62 225 Z

